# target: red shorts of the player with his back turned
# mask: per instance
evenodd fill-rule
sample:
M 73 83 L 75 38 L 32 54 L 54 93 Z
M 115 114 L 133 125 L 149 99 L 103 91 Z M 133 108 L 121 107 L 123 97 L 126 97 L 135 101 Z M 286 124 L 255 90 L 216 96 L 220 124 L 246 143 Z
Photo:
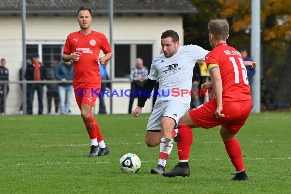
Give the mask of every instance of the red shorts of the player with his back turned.
M 223 101 L 222 106 L 221 114 L 224 114 L 222 118 L 216 118 L 215 116 L 217 108 L 215 98 L 190 110 L 189 115 L 196 125 L 205 129 L 221 125 L 229 129 L 233 134 L 238 133 L 250 115 L 252 100 Z

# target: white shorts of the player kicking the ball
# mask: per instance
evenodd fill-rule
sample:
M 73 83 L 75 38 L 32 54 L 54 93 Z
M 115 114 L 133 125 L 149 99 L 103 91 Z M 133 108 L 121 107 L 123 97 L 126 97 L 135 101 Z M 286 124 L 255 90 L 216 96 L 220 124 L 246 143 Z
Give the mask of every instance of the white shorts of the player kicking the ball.
M 157 101 L 152 114 L 150 115 L 147 130 L 160 131 L 161 122 L 164 116 L 173 118 L 178 125 L 179 119 L 189 110 L 189 103 L 181 101 Z

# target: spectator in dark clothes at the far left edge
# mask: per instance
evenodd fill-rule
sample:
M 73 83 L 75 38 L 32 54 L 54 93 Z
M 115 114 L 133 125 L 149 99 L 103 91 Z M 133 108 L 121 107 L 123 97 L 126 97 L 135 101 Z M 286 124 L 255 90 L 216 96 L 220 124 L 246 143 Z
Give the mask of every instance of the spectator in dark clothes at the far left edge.
M 1 59 L 0 61 L 0 81 L 9 81 L 9 71 L 5 67 L 6 60 Z M 9 92 L 9 84 L 0 83 L 0 114 L 5 114 L 5 100 Z

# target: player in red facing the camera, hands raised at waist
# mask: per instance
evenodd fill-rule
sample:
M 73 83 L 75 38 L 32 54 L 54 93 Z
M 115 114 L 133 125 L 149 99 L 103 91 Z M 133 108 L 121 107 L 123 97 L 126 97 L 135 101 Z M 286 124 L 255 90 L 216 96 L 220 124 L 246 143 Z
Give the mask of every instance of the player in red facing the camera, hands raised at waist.
M 112 50 L 106 36 L 91 30 L 92 13 L 80 7 L 77 20 L 80 31 L 68 35 L 62 59 L 74 61 L 73 86 L 81 116 L 91 139 L 89 157 L 109 154 L 100 128 L 93 117 L 92 108 L 101 88 L 99 64 L 112 58 Z M 100 50 L 105 54 L 99 57 Z

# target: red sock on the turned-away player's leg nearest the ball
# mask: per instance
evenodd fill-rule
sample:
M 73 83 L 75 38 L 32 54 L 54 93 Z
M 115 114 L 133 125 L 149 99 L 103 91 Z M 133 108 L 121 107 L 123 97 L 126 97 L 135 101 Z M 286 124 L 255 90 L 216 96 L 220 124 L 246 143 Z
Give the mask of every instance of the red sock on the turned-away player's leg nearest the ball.
M 179 160 L 189 160 L 190 148 L 193 142 L 192 129 L 187 125 L 178 126 L 178 155 Z

